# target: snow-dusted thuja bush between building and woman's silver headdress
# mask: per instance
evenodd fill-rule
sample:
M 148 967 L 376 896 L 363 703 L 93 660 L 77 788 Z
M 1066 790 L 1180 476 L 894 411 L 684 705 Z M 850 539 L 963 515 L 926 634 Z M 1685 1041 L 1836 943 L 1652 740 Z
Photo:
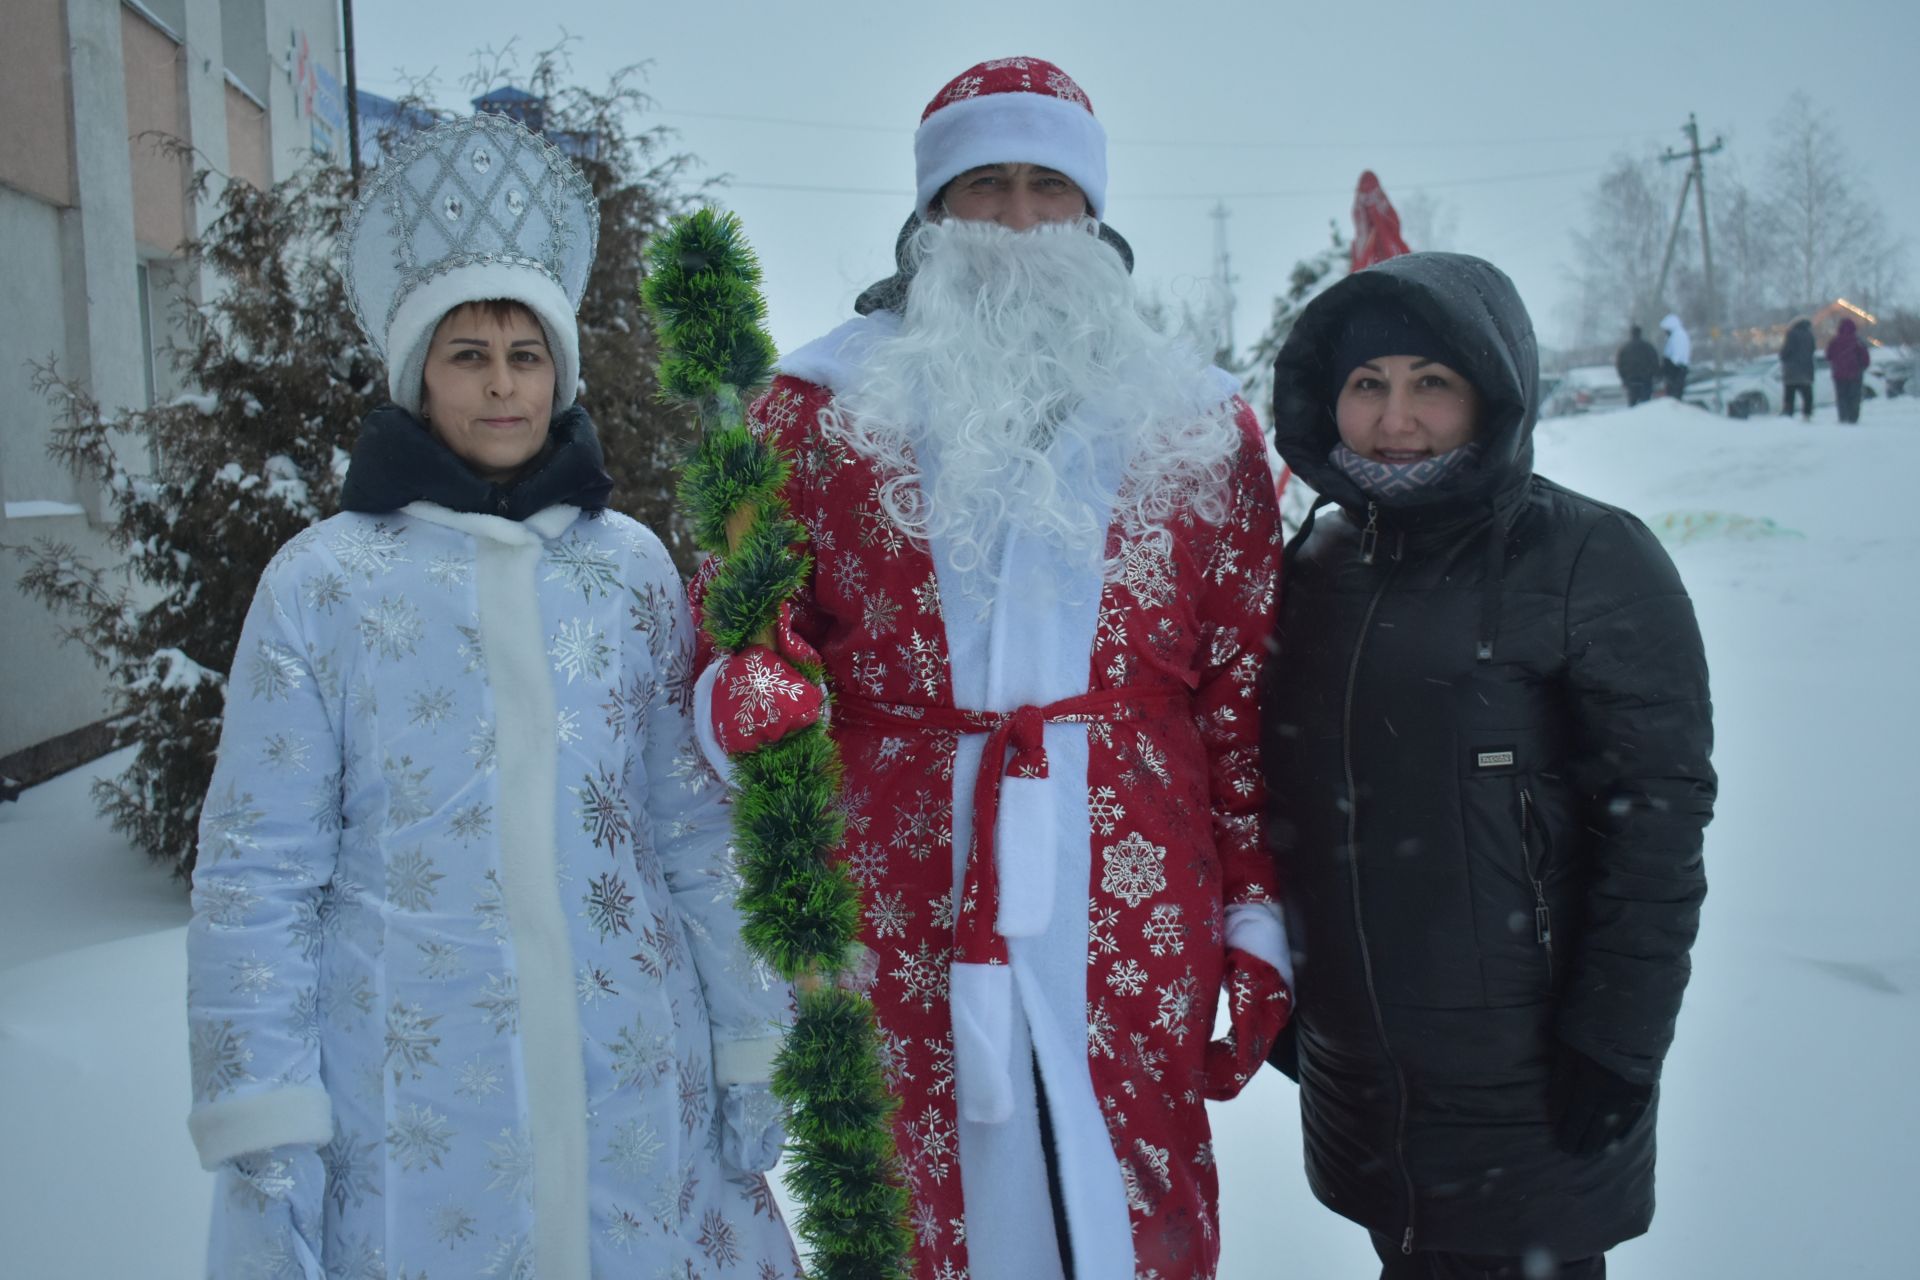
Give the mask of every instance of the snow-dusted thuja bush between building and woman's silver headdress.
M 94 785 L 96 802 L 180 875 L 253 587 L 286 539 L 336 509 L 346 449 L 384 395 L 332 265 L 346 205 L 346 175 L 321 167 L 269 190 L 227 186 L 188 248 L 221 280 L 217 297 L 186 305 L 173 351 L 196 393 L 113 416 L 36 367 L 58 415 L 52 453 L 104 489 L 125 570 L 38 541 L 13 549 L 21 587 L 111 674 L 115 741 L 138 747 Z

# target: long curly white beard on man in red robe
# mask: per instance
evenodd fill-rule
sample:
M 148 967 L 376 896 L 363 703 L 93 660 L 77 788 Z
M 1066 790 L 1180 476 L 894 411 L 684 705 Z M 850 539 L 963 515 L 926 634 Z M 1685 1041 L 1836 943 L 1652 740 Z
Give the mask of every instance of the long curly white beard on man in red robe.
M 1010 532 L 1079 576 L 1112 568 L 1110 516 L 1133 539 L 1165 539 L 1181 509 L 1223 514 L 1231 407 L 1194 347 L 1140 313 L 1094 232 L 1085 219 L 920 228 L 900 332 L 876 344 L 829 416 L 891 476 L 887 514 L 939 541 L 979 601 Z

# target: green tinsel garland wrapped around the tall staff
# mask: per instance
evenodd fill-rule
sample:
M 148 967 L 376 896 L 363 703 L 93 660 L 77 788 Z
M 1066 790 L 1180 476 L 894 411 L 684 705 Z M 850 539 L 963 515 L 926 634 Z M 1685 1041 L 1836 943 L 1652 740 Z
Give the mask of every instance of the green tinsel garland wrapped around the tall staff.
M 749 395 L 774 368 L 760 265 L 739 219 L 712 209 L 676 219 L 647 259 L 641 296 L 666 351 L 660 388 L 701 422 L 680 501 L 701 545 L 720 557 L 703 624 L 722 649 L 764 643 L 810 560 L 806 532 L 780 499 L 789 462 L 745 424 Z M 735 758 L 733 777 L 743 936 L 799 988 L 774 1092 L 789 1111 L 789 1188 L 810 1274 L 904 1280 L 912 1236 L 893 1148 L 897 1100 L 879 1069 L 872 1004 L 835 984 L 860 933 L 860 890 L 831 860 L 845 831 L 839 752 L 812 725 Z

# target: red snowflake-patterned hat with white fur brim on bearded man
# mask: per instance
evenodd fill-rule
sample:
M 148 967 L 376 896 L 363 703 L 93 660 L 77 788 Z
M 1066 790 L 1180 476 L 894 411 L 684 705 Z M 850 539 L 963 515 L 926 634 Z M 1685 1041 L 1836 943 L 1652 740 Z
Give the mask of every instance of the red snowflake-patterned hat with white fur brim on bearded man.
M 1106 129 L 1066 71 L 1039 58 L 968 67 L 933 96 L 914 132 L 916 200 L 931 217 L 941 190 L 981 165 L 1056 169 L 1106 211 Z

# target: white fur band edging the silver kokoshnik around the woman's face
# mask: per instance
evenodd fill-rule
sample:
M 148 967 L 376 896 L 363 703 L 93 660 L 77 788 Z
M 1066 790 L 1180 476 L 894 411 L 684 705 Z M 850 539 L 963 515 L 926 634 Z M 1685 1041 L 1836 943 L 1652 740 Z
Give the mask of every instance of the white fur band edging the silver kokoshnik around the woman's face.
M 524 303 L 540 319 L 553 357 L 553 407 L 566 409 L 580 390 L 580 324 L 553 276 L 515 263 L 468 263 L 426 280 L 399 303 L 386 328 L 386 393 L 407 413 L 420 415 L 426 347 L 440 319 L 459 305 L 503 297 Z

